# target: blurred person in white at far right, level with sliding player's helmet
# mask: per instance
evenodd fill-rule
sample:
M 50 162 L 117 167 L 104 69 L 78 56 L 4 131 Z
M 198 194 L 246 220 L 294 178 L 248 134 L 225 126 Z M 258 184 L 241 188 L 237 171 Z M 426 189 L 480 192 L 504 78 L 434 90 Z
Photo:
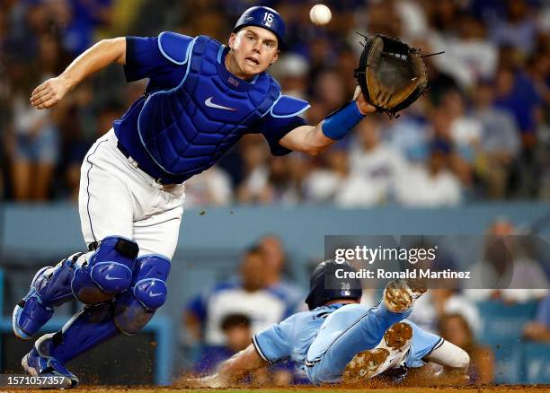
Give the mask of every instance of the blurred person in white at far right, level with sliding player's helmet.
M 475 301 L 489 299 L 524 302 L 546 295 L 548 278 L 542 266 L 531 258 L 514 225 L 499 218 L 488 228 L 483 259 L 472 266 L 472 281 L 466 295 Z

